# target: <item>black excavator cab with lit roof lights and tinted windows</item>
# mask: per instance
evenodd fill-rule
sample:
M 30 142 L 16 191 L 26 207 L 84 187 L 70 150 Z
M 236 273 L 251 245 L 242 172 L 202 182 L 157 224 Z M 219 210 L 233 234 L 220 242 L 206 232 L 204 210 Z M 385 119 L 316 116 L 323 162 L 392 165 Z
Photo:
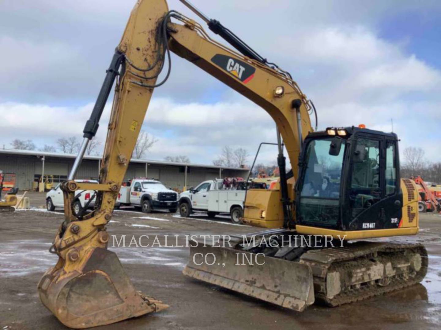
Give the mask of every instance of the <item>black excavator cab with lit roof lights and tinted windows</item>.
M 328 128 L 304 141 L 296 222 L 331 231 L 399 228 L 398 138 L 366 128 Z

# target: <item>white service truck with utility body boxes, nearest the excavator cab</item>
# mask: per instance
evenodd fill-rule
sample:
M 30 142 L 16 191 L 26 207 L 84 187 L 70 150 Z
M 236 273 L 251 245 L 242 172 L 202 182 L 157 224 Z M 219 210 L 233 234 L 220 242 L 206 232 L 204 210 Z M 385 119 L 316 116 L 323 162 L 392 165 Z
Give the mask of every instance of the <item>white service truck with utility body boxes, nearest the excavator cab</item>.
M 224 189 L 221 179 L 208 180 L 180 194 L 179 214 L 187 217 L 194 211 L 202 211 L 213 217 L 219 213 L 229 213 L 231 221 L 240 224 L 244 201 L 244 190 Z

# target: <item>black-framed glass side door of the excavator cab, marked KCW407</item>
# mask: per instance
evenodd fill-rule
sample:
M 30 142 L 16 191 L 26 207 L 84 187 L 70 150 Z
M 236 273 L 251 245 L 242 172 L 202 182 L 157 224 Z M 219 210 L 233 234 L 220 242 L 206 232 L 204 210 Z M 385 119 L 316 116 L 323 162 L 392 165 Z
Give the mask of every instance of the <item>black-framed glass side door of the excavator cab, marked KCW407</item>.
M 358 135 L 351 154 L 345 227 L 349 230 L 396 228 L 402 213 L 396 139 Z

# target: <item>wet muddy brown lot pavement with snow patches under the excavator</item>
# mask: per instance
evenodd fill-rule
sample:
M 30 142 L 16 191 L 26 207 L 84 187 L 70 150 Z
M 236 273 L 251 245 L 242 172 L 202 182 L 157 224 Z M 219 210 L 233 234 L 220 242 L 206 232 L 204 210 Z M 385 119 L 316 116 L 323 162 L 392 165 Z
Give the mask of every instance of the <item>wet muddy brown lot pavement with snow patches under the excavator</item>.
M 44 195 L 31 194 L 31 202 L 34 207 L 43 205 Z M 41 208 L 0 215 L 0 330 L 66 329 L 37 294 L 41 275 L 56 263 L 48 249 L 62 219 L 62 213 Z M 420 227 L 419 235 L 398 239 L 426 246 L 429 270 L 421 284 L 336 308 L 314 304 L 302 313 L 183 276 L 187 248 L 110 248 L 136 289 L 170 308 L 99 329 L 440 329 L 441 216 L 423 214 Z M 108 231 L 137 239 L 176 234 L 182 244 L 186 234 L 244 234 L 256 229 L 232 225 L 226 217 L 180 218 L 124 209 L 114 213 Z

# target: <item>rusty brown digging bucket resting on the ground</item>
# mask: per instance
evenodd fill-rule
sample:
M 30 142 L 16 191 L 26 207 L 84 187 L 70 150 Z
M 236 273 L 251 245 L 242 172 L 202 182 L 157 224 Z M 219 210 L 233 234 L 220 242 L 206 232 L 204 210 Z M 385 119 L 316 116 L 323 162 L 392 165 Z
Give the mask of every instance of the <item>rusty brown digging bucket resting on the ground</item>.
M 107 249 L 91 249 L 82 269 L 65 272 L 60 260 L 41 278 L 38 292 L 66 326 L 101 326 L 168 307 L 135 291 L 120 260 Z

